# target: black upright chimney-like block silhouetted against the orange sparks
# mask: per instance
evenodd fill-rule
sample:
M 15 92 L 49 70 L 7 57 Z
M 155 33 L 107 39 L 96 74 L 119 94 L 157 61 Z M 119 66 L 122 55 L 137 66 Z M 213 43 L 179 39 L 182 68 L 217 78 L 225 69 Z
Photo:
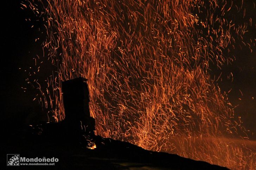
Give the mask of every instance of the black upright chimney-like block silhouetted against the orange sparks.
M 76 131 L 79 125 L 87 135 L 94 136 L 95 120 L 90 117 L 87 79 L 79 77 L 62 82 L 62 93 L 65 123 L 70 124 L 71 130 Z

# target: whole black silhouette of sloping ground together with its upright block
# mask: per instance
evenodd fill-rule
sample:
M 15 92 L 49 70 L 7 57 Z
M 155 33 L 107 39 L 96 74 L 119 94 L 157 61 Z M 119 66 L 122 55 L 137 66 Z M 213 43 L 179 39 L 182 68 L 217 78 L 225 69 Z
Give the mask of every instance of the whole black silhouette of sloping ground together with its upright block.
M 62 93 L 65 119 L 58 123 L 30 125 L 25 136 L 16 135 L 9 139 L 6 151 L 19 152 L 20 155 L 27 157 L 54 156 L 59 162 L 51 168 L 64 170 L 227 169 L 175 154 L 145 150 L 128 142 L 96 136 L 95 120 L 90 117 L 87 79 L 79 77 L 63 82 Z M 34 166 L 20 166 L 20 168 L 34 169 Z

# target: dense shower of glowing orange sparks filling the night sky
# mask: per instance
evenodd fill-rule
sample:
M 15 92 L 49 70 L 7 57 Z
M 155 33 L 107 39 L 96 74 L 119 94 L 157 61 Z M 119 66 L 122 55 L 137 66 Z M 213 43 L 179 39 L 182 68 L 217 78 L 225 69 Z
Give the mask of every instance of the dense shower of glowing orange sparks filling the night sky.
M 96 134 L 255 169 L 255 143 L 233 141 L 246 138 L 245 130 L 214 84 L 219 76 L 210 76 L 235 59 L 228 54 L 236 41 L 255 45 L 243 42 L 254 21 L 230 19 L 245 16 L 243 1 L 47 0 L 42 10 L 27 4 L 44 17 L 43 46 L 58 68 L 37 96 L 56 121 L 65 117 L 60 82 L 82 76 L 89 79 Z

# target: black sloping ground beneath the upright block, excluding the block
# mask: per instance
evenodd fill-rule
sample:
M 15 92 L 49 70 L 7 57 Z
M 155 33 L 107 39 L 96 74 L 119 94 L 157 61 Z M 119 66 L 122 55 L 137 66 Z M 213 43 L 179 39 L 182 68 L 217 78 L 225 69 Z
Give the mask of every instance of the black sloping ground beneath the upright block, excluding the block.
M 28 128 L 16 131 L 10 135 L 4 145 L 1 145 L 3 167 L 7 169 L 88 169 L 88 170 L 228 170 L 203 161 L 194 161 L 174 154 L 153 152 L 136 145 L 112 140 L 110 138 L 94 137 L 97 148 L 86 148 L 87 143 L 76 142 L 72 135 L 60 134 L 52 130 L 52 136 L 35 135 Z M 56 135 L 55 135 L 56 134 Z M 6 166 L 6 154 L 16 153 L 26 158 L 58 158 L 55 165 L 48 166 Z

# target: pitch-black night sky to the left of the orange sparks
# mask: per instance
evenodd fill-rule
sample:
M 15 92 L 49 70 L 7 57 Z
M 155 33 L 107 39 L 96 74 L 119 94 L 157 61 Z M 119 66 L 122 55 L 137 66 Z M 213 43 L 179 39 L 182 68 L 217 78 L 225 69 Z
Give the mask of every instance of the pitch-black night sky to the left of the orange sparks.
M 33 72 L 34 57 L 42 54 L 41 43 L 45 37 L 38 28 L 43 28 L 34 14 L 21 9 L 21 1 L 7 1 L 2 25 L 1 57 L 1 117 L 5 130 L 12 131 L 21 125 L 31 123 L 31 120 L 45 120 L 38 101 L 33 101 L 35 90 L 26 83 L 29 72 Z M 2 11 L 3 12 L 3 11 Z M 31 19 L 26 21 L 25 19 Z M 34 28 L 31 28 L 34 25 Z M 35 42 L 35 39 L 39 41 Z M 52 66 L 45 57 L 44 69 L 37 76 L 44 77 L 52 72 Z M 32 67 L 30 69 L 30 67 Z M 19 69 L 20 68 L 20 69 Z M 25 71 L 26 70 L 26 71 Z M 21 88 L 27 88 L 26 92 Z

